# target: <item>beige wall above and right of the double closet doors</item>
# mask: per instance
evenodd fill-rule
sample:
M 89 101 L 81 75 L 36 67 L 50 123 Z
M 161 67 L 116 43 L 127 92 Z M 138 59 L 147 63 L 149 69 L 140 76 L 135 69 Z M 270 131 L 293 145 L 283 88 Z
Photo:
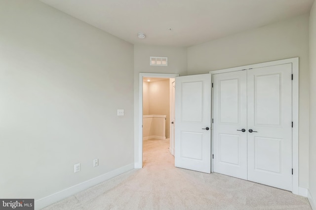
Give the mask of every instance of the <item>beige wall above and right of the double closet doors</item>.
M 309 15 L 188 48 L 188 74 L 299 57 L 299 186 L 308 188 Z

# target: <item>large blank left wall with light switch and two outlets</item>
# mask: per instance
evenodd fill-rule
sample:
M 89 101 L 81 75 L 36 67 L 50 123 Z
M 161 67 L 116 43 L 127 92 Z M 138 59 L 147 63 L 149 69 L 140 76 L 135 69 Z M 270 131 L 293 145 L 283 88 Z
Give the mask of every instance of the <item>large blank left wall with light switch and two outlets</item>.
M 1 0 L 0 31 L 0 198 L 133 164 L 133 45 L 38 0 Z

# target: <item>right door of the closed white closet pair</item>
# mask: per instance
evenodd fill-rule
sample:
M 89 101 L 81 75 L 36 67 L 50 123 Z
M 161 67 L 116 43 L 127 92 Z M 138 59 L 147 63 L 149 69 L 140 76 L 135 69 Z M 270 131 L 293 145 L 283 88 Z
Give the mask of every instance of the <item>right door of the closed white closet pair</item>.
M 247 78 L 248 180 L 285 190 L 292 190 L 291 74 L 288 63 L 250 69 Z

